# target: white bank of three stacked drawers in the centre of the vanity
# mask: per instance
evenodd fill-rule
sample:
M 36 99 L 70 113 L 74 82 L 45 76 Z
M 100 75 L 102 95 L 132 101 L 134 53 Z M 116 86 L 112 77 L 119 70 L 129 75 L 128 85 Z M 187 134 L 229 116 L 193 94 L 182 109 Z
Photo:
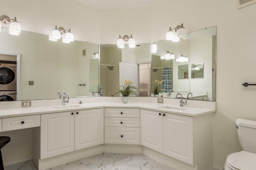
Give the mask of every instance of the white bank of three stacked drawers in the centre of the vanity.
M 104 143 L 140 145 L 140 109 L 105 108 Z

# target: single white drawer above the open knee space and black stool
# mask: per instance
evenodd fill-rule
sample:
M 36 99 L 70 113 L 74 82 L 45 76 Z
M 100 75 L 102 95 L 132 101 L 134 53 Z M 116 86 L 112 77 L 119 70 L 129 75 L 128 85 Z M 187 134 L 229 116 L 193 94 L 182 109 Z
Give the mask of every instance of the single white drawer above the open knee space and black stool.
M 12 131 L 40 126 L 40 115 L 2 118 L 2 131 Z

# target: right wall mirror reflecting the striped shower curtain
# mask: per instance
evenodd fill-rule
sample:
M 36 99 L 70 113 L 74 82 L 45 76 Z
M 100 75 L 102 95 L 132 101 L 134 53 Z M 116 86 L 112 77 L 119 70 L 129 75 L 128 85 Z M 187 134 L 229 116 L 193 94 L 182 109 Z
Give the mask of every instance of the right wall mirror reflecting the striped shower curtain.
M 216 27 L 188 33 L 179 42 L 162 40 L 156 45 L 151 74 L 153 85 L 154 81 L 162 81 L 158 96 L 175 98 L 179 92 L 187 98 L 192 92 L 189 99 L 216 100 Z M 174 59 L 166 58 L 170 57 L 166 53 L 174 55 Z M 188 61 L 180 62 L 180 57 L 187 57 Z

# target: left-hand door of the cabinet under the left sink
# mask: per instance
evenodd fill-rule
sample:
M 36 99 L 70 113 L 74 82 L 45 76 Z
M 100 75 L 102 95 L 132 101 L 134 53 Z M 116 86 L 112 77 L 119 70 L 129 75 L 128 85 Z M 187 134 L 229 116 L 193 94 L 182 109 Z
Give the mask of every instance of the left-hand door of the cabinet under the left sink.
M 73 150 L 74 112 L 42 114 L 41 159 Z

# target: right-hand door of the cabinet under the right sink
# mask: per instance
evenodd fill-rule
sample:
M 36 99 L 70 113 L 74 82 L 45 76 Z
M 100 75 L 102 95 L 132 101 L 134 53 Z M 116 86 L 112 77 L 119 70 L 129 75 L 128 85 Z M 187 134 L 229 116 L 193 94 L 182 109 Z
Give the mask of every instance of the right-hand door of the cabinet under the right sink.
M 193 165 L 193 117 L 164 114 L 164 154 Z

